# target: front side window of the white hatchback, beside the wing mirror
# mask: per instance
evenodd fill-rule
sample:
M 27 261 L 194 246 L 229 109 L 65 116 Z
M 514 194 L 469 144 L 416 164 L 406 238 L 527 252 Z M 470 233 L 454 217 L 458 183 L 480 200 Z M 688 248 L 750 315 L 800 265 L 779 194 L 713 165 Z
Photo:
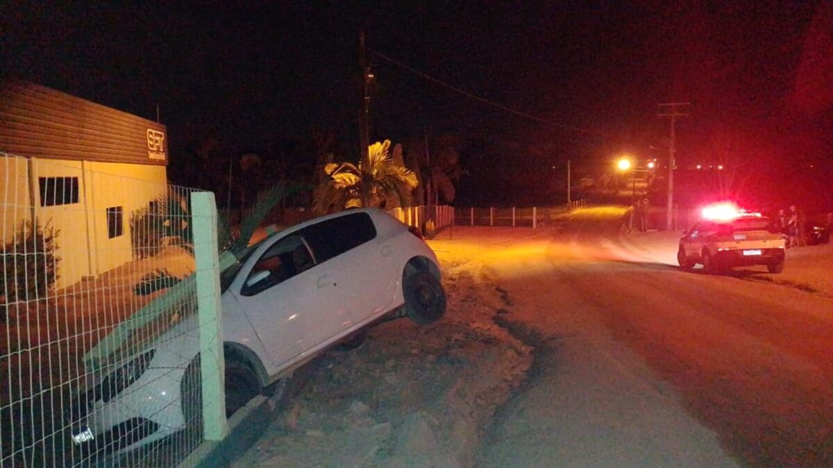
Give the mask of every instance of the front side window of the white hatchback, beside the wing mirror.
M 275 242 L 252 267 L 240 293 L 253 296 L 315 266 L 302 236 L 292 234 Z

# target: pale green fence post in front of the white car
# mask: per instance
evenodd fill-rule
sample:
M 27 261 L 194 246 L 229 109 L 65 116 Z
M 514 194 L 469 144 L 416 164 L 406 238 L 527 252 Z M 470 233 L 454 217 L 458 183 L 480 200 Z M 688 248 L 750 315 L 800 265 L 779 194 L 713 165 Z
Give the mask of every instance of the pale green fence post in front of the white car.
M 212 192 L 191 196 L 194 259 L 197 271 L 197 314 L 202 370 L 202 421 L 207 441 L 221 441 L 228 434 L 223 388 L 222 307 L 220 261 L 217 258 L 217 205 Z

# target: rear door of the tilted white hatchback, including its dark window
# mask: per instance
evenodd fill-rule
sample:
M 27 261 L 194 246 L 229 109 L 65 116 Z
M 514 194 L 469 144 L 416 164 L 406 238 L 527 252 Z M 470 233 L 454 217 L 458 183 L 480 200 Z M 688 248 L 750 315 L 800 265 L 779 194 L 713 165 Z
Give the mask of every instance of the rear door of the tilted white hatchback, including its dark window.
M 386 310 L 395 296 L 398 277 L 393 271 L 393 246 L 377 236 L 367 212 L 352 212 L 342 217 L 302 229 L 317 261 L 340 278 L 345 303 L 357 323 Z

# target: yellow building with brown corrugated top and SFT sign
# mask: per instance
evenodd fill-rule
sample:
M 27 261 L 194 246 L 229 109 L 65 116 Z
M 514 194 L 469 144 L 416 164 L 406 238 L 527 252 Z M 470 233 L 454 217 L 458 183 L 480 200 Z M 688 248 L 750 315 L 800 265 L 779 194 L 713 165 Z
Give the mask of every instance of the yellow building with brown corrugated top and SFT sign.
M 57 287 L 132 260 L 130 217 L 166 193 L 164 125 L 29 82 L 0 82 L 0 229 L 59 230 Z

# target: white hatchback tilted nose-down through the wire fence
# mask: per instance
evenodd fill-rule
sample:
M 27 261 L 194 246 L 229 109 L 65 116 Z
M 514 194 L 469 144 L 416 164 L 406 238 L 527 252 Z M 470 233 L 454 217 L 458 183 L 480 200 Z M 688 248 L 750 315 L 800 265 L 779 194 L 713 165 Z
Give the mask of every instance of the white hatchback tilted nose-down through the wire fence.
M 380 319 L 438 320 L 440 279 L 431 248 L 377 209 L 319 217 L 248 247 L 221 277 L 227 416 Z M 122 362 L 83 397 L 72 433 L 83 451 L 126 451 L 201 425 L 197 316 Z

